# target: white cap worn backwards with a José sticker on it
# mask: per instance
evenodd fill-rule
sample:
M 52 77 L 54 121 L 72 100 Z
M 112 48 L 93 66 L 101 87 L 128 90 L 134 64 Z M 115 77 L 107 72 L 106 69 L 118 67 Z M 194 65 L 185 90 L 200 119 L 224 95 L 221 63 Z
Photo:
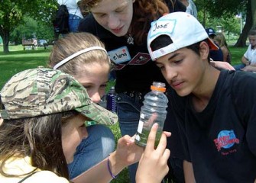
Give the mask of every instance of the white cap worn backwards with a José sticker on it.
M 167 35 L 173 41 L 167 47 L 151 50 L 151 43 L 160 35 Z M 173 12 L 160 17 L 151 23 L 151 29 L 147 35 L 147 50 L 154 61 L 160 56 L 173 53 L 183 47 L 188 47 L 202 40 L 209 40 L 210 50 L 219 50 L 219 47 L 209 39 L 205 28 L 191 14 L 185 12 Z

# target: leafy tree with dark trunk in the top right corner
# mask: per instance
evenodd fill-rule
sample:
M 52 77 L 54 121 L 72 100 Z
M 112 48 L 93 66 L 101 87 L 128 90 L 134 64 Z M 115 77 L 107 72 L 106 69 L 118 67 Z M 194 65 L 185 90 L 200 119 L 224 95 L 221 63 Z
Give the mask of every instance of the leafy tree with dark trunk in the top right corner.
M 195 0 L 196 7 L 201 13 L 199 21 L 205 26 L 207 21 L 212 21 L 217 18 L 217 22 L 221 23 L 221 19 L 226 21 L 225 28 L 231 31 L 232 24 L 227 21 L 235 23 L 234 15 L 242 13 L 245 18 L 245 26 L 240 34 L 238 42 L 235 44 L 237 47 L 245 47 L 248 31 L 251 27 L 256 26 L 256 1 L 255 0 Z M 211 19 L 207 18 L 209 16 Z M 233 30 L 232 30 L 233 31 Z

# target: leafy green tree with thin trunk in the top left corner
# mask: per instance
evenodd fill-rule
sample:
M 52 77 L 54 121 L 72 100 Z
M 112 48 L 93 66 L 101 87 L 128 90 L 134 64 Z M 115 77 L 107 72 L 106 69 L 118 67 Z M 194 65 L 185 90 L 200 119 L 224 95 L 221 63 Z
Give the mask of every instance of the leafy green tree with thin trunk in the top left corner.
M 8 53 L 11 31 L 24 23 L 25 15 L 50 24 L 56 9 L 57 1 L 52 0 L 0 0 L 0 36 L 3 40 L 4 52 Z

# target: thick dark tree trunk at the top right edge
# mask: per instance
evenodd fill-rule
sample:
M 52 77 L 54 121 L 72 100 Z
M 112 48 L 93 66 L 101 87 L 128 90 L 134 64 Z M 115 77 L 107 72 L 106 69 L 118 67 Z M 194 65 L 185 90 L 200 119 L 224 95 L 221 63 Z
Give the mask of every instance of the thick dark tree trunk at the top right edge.
M 252 15 L 256 12 L 256 1 L 255 0 L 249 0 L 246 8 L 246 21 L 245 21 L 245 27 L 241 31 L 240 37 L 238 38 L 238 41 L 235 43 L 234 47 L 246 47 L 246 40 L 248 38 L 248 32 L 251 30 L 251 27 L 253 26 L 253 21 L 256 21 Z M 252 4 L 254 5 L 254 9 L 251 7 Z M 254 20 L 253 20 L 254 19 Z

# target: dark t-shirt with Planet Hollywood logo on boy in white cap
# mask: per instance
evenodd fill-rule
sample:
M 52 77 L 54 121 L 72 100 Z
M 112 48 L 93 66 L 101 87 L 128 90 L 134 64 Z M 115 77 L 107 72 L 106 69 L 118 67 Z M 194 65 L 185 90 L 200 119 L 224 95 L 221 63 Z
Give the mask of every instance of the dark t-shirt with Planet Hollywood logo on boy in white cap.
M 256 178 L 256 74 L 222 70 L 209 104 L 193 110 L 190 96 L 170 93 L 184 159 L 196 182 L 254 182 Z

